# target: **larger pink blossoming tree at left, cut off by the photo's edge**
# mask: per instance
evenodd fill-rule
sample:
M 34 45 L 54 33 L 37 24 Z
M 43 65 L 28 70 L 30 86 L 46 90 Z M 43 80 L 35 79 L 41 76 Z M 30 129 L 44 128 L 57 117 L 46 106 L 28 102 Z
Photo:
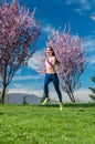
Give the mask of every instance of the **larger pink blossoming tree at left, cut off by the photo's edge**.
M 40 35 L 40 23 L 34 12 L 20 7 L 18 0 L 9 4 L 6 0 L 0 6 L 0 76 L 2 80 L 2 103 L 8 84 L 14 73 L 27 64 L 35 52 Z

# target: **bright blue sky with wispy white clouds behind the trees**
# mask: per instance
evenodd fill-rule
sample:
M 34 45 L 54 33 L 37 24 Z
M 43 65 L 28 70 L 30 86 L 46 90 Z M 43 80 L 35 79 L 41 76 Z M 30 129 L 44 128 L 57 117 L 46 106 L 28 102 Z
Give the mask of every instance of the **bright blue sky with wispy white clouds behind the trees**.
M 19 0 L 21 6 L 27 6 L 31 11 L 36 8 L 35 18 L 42 24 L 42 34 L 38 41 L 38 50 L 45 48 L 48 35 L 53 29 L 71 23 L 72 34 L 82 38 L 88 65 L 81 76 L 82 88 L 87 89 L 94 84 L 91 76 L 95 73 L 95 21 L 91 16 L 95 14 L 95 0 Z M 43 90 L 44 76 L 35 69 L 35 58 L 29 61 L 28 66 L 20 69 L 9 88 L 25 90 Z M 52 85 L 51 85 L 52 89 Z

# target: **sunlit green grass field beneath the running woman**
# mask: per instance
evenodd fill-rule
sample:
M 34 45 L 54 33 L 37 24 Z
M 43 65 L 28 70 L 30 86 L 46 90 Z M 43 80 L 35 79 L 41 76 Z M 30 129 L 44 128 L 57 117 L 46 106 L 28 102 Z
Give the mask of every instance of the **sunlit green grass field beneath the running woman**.
M 0 144 L 95 144 L 95 104 L 0 105 Z

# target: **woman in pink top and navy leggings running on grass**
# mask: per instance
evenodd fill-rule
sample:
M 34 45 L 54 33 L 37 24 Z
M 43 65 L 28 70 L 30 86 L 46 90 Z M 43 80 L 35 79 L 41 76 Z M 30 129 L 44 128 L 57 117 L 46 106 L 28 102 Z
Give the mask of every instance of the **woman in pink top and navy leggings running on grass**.
M 59 101 L 60 101 L 60 111 L 62 111 L 62 93 L 60 91 L 59 78 L 55 72 L 56 62 L 57 62 L 57 60 L 55 58 L 53 49 L 51 47 L 48 47 L 46 48 L 46 59 L 45 59 L 46 74 L 45 74 L 45 79 L 44 79 L 45 99 L 44 99 L 42 105 L 46 104 L 46 102 L 49 101 L 49 83 L 53 82 L 55 91 L 59 96 Z

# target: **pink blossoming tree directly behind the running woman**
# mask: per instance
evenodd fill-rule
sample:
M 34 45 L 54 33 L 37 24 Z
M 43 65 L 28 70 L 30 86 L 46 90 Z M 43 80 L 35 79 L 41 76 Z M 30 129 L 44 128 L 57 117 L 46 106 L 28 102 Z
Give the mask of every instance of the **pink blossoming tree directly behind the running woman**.
M 59 61 L 56 72 L 60 76 L 62 90 L 67 93 L 72 102 L 75 102 L 74 91 L 78 89 L 80 76 L 86 66 L 81 38 L 73 37 L 66 31 L 54 31 L 53 34 L 49 35 L 46 47 L 53 48 Z M 44 60 L 45 52 L 43 51 L 41 59 L 39 59 L 39 71 L 41 73 L 45 72 Z

